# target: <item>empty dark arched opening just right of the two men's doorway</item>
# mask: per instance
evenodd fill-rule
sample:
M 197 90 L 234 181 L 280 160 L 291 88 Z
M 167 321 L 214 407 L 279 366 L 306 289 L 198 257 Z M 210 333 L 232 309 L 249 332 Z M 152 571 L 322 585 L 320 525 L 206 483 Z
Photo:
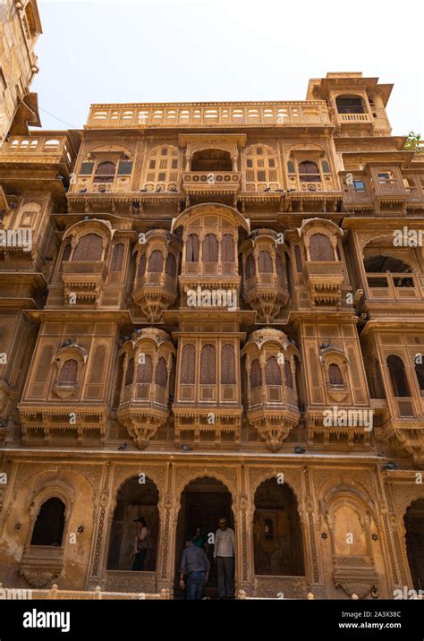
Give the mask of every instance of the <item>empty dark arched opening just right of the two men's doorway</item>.
M 302 577 L 305 574 L 301 520 L 287 483 L 267 479 L 255 492 L 253 517 L 255 574 Z

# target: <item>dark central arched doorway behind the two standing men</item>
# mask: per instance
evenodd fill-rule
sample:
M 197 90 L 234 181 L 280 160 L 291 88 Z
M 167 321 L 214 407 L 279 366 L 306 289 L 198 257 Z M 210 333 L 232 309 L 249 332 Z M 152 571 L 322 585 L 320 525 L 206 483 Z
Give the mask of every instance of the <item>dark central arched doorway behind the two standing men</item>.
M 178 515 L 176 530 L 176 549 L 175 549 L 175 585 L 174 594 L 177 599 L 184 598 L 184 594 L 178 585 L 178 568 L 181 560 L 184 538 L 187 534 L 192 534 L 196 526 L 201 526 L 202 533 L 206 535 L 209 541 L 212 537 L 209 534 L 215 534 L 218 529 L 218 520 L 225 517 L 229 527 L 234 527 L 232 496 L 224 483 L 217 481 L 215 478 L 204 476 L 191 481 L 185 486 L 181 495 L 181 509 Z M 217 577 L 216 566 L 213 562 L 214 545 L 208 543 L 207 548 L 208 560 L 210 561 L 210 575 L 208 585 L 204 594 L 210 597 L 217 596 Z

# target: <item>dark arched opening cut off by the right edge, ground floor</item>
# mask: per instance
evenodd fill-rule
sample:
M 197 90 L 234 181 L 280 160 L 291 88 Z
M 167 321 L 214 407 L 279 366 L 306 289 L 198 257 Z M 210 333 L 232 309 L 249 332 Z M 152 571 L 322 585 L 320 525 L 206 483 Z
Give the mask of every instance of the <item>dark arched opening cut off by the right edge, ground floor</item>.
M 424 590 L 424 499 L 414 500 L 404 517 L 406 551 L 415 590 Z

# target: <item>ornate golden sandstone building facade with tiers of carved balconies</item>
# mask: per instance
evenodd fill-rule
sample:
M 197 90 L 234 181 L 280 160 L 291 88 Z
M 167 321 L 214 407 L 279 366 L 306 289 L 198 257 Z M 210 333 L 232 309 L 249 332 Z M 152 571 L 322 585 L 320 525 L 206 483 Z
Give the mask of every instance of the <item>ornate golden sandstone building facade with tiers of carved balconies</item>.
M 328 73 L 69 131 L 11 107 L 0 583 L 183 598 L 185 535 L 225 517 L 239 597 L 424 589 L 424 152 L 391 90 Z

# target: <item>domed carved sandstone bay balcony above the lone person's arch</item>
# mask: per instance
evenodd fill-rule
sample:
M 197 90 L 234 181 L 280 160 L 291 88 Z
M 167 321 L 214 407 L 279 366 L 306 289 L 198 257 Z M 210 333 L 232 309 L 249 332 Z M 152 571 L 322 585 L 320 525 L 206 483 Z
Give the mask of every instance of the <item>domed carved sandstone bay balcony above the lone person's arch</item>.
M 169 385 L 175 349 L 161 329 L 141 329 L 122 350 L 123 381 L 117 415 L 140 449 L 169 416 Z

